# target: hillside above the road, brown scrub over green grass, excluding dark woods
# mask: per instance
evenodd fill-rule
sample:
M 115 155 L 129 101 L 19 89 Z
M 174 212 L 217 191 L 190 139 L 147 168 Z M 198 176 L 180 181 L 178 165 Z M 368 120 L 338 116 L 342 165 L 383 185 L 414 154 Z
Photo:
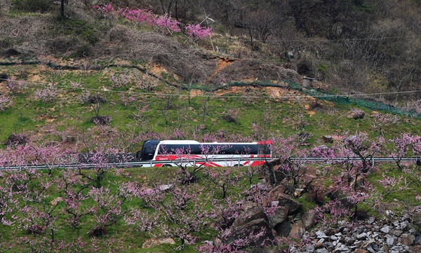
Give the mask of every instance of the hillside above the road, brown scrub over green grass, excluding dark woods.
M 346 116 L 346 110 L 352 110 L 349 104 L 356 103 L 350 100 L 348 105 L 334 106 L 322 100 L 319 103 L 319 100 L 307 97 L 306 93 L 297 93 L 288 82 L 300 86 L 303 75 L 299 73 L 302 71 L 288 66 L 297 67 L 299 61 L 285 64 L 273 60 L 263 49 L 250 50 L 241 37 L 236 39 L 215 33 L 210 39 L 193 41 L 185 34 L 168 34 L 159 28 L 121 18 L 117 13 L 102 13 L 81 3 L 78 5 L 78 2 L 67 6 L 68 18 L 65 20 L 54 13 L 58 11 L 58 6 L 41 13 L 22 13 L 14 11 L 13 5 L 6 6 L 5 9 L 10 12 L 3 13 L 0 28 L 2 34 L 8 34 L 0 43 L 4 56 L 0 62 L 0 73 L 4 77 L 1 83 L 4 84 L 4 95 L 11 94 L 9 103 L 13 104 L 13 108 L 21 109 L 10 109 L 3 113 L 6 121 L 2 123 L 1 139 L 5 140 L 11 133 L 19 134 L 22 130 L 35 131 L 36 135 L 41 136 L 48 131 L 42 125 L 47 125 L 50 130 L 73 127 L 77 131 L 90 129 L 88 121 L 99 114 L 114 117 L 112 125 L 118 125 L 122 130 L 128 130 L 123 125 L 136 125 L 145 120 L 141 118 L 147 118 L 148 128 L 156 125 L 156 130 L 181 130 L 189 125 L 182 122 L 186 121 L 193 123 L 186 130 L 197 128 L 202 123 L 204 128 L 209 128 L 209 132 L 227 130 L 229 134 L 241 135 L 250 132 L 252 122 L 262 121 L 262 114 L 258 112 L 261 109 L 272 114 L 272 111 L 279 109 L 297 108 L 298 111 L 291 110 L 292 115 L 305 117 L 312 116 L 313 113 L 309 112 L 312 109 L 323 114 L 323 111 L 338 107 L 336 114 Z M 228 46 L 228 52 L 232 53 L 216 49 Z M 7 78 L 17 83 L 7 83 Z M 26 90 L 19 90 L 18 81 L 23 82 L 22 87 Z M 8 86 L 13 85 L 17 87 L 10 90 L 13 88 Z M 44 87 L 44 97 L 42 94 L 34 95 L 40 87 Z M 322 92 L 315 93 L 320 98 L 341 94 L 342 89 L 337 83 L 317 79 L 313 81 L 313 88 Z M 360 91 L 354 91 L 356 96 L 352 98 L 383 102 L 387 98 L 386 93 L 379 93 L 378 90 L 375 91 L 377 95 L 364 95 Z M 349 93 L 344 94 L 349 96 Z M 108 102 L 91 104 L 89 95 L 102 96 Z M 229 107 L 220 106 L 226 103 L 224 96 L 232 97 Z M 190 100 L 193 97 L 196 101 Z M 234 101 L 236 97 L 241 99 L 241 105 Z M 299 103 L 279 103 L 282 101 Z M 25 105 L 20 105 L 21 102 Z M 208 109 L 212 107 L 218 109 Z M 398 111 L 406 114 L 408 109 L 415 110 L 416 107 L 413 100 L 412 104 L 407 103 Z M 28 111 L 22 111 L 22 108 Z M 114 109 L 116 111 L 112 111 Z M 77 116 L 73 110 L 77 111 Z M 159 112 L 156 113 L 156 110 Z M 51 115 L 48 115 L 49 112 Z M 388 112 L 391 110 L 383 111 Z M 335 112 L 330 114 L 334 115 Z M 151 118 L 150 115 L 160 117 Z M 220 117 L 228 116 L 232 117 L 234 123 L 238 121 L 234 128 L 229 126 L 229 122 L 220 123 Z M 282 116 L 276 114 L 276 117 Z M 273 122 L 285 122 L 276 117 L 272 118 Z M 208 126 L 208 119 L 217 125 L 212 123 Z M 297 125 L 293 121 L 289 123 Z M 329 128 L 332 125 L 318 128 L 318 131 Z M 354 131 L 348 125 L 343 129 Z M 292 133 L 291 130 L 286 126 L 283 131 Z M 324 134 L 331 133 L 327 131 Z

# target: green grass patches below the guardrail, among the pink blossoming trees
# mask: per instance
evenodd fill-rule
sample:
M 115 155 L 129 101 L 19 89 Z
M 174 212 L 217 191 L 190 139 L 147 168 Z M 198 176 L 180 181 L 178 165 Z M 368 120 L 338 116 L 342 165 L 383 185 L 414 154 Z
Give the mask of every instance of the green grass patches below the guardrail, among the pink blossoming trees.
M 241 167 L 240 170 L 243 171 L 246 169 L 247 167 Z M 105 174 L 105 178 L 102 181 L 102 186 L 111 189 L 111 192 L 114 194 L 118 191 L 119 186 L 125 182 L 138 182 L 140 186 L 145 186 L 146 188 L 152 187 L 155 183 L 168 184 L 169 180 L 175 177 L 177 170 L 177 167 L 131 168 L 122 170 L 118 174 L 115 173 L 116 171 L 110 170 Z M 213 168 L 212 170 L 223 170 L 223 168 Z M 400 172 L 399 170 L 394 168 L 394 165 L 392 164 L 380 165 L 378 167 L 378 170 L 379 172 L 371 174 L 370 177 L 368 177 L 368 179 L 372 184 L 375 185 L 375 189 L 379 191 L 380 194 L 382 193 L 382 187 L 376 182 L 378 179 L 382 179 L 382 172 L 384 172 L 385 175 L 388 176 L 406 176 L 405 173 Z M 53 170 L 53 175 L 51 177 L 47 177 L 46 171 L 39 172 L 41 172 L 42 176 L 38 179 L 34 179 L 32 182 L 29 183 L 29 189 L 32 189 L 32 192 L 34 193 L 41 191 L 42 187 L 40 182 L 46 182 L 53 179 L 60 179 L 62 170 Z M 83 173 L 92 175 L 93 172 L 83 171 Z M 208 176 L 204 175 L 202 172 L 199 172 L 198 177 L 198 182 L 187 187 L 189 187 L 190 189 L 194 189 L 194 191 L 199 191 L 199 198 L 205 206 L 205 209 L 209 210 L 210 202 L 208 200 L 212 198 L 221 199 L 220 192 L 218 188 L 216 188 L 216 184 L 210 182 Z M 258 177 L 258 175 L 255 175 L 251 184 L 257 184 L 259 182 Z M 406 178 L 409 179 L 409 177 Z M 1 184 L 4 184 L 4 182 L 2 181 Z M 326 180 L 326 184 L 329 185 L 331 183 L 329 183 L 328 180 Z M 420 182 L 411 182 L 410 186 L 411 189 L 406 189 L 403 191 L 393 191 L 391 193 L 388 193 L 387 196 L 382 196 L 381 201 L 383 203 L 403 203 L 403 205 L 397 209 L 392 208 L 397 213 L 402 212 L 408 206 L 419 205 L 420 202 L 418 200 L 415 200 L 413 196 L 415 196 L 415 193 L 419 193 L 421 191 Z M 78 186 L 75 187 L 77 188 Z M 250 183 L 248 182 L 248 178 L 243 176 L 240 178 L 240 181 L 236 185 L 236 187 L 229 187 L 228 194 L 229 196 L 238 196 L 239 199 L 243 199 L 244 197 L 241 197 L 243 196 L 243 190 L 248 189 L 249 187 Z M 88 189 L 84 190 L 83 193 L 86 194 L 87 191 Z M 43 202 L 47 203 L 47 207 L 49 208 L 51 208 L 52 205 L 48 205 L 48 203 L 51 203 L 52 200 L 55 200 L 59 196 L 62 196 L 62 192 L 55 186 L 49 188 L 48 191 L 45 192 L 45 194 L 46 195 L 44 196 Z M 303 210 L 313 210 L 314 207 L 316 207 L 316 203 L 314 203 L 313 200 L 309 199 L 308 193 L 305 193 L 302 197 L 298 198 L 297 200 L 302 204 Z M 36 206 L 38 204 L 20 199 L 19 205 L 20 207 L 23 207 L 25 205 Z M 83 205 L 91 206 L 94 204 L 92 200 L 83 200 Z M 122 212 L 127 213 L 131 207 L 141 207 L 144 211 L 147 210 L 148 212 L 155 212 L 155 210 L 149 207 L 145 207 L 144 205 L 145 204 L 142 203 L 142 201 L 140 201 L 137 198 L 134 198 L 133 200 L 123 204 Z M 121 217 L 119 217 L 119 219 L 117 220 L 116 224 L 106 228 L 107 235 L 90 238 L 88 236 L 88 232 L 91 230 L 91 228 L 93 228 L 93 226 L 95 226 L 95 220 L 93 219 L 93 216 L 86 215 L 85 217 L 81 218 L 81 224 L 79 226 L 71 228 L 65 221 L 65 219 L 67 219 L 69 215 L 61 212 L 62 207 L 65 207 L 65 205 L 61 201 L 56 210 L 52 213 L 53 215 L 58 217 L 57 221 L 55 221 L 55 240 L 57 241 L 81 240 L 87 245 L 94 243 L 98 248 L 101 248 L 100 252 L 105 252 L 106 250 L 108 250 L 107 244 L 111 245 L 111 247 L 113 247 L 114 249 L 123 247 L 125 249 L 125 252 L 142 253 L 174 252 L 175 247 L 178 247 L 180 245 L 180 242 L 178 240 L 175 240 L 175 245 L 164 244 L 152 248 L 142 248 L 143 243 L 148 238 L 153 238 L 154 236 L 150 235 L 149 233 L 138 231 L 133 225 L 127 225 L 125 221 L 123 221 L 122 214 Z M 192 206 L 188 208 L 192 208 Z M 376 215 L 377 213 L 374 212 L 372 208 L 373 206 L 370 205 L 370 203 L 361 203 L 359 205 L 359 210 L 365 210 L 370 214 Z M 15 215 L 21 217 L 22 214 L 15 213 Z M 0 225 L 0 228 L 3 236 L 2 242 L 12 242 L 16 238 L 21 237 L 29 238 L 31 240 L 41 238 L 39 235 L 31 235 L 30 233 L 27 233 L 23 228 L 15 228 L 14 226 L 4 225 Z M 218 235 L 218 232 L 215 231 L 215 229 L 213 229 L 211 226 L 207 226 L 206 228 L 202 229 L 198 233 L 194 233 L 193 235 L 200 238 L 196 243 L 196 245 L 200 245 L 201 241 L 203 240 L 212 240 L 213 238 L 215 238 L 215 236 Z M 25 242 L 22 242 L 22 245 L 27 244 L 25 244 Z M 196 245 L 186 245 L 185 248 L 179 250 L 179 252 L 196 252 L 194 249 Z

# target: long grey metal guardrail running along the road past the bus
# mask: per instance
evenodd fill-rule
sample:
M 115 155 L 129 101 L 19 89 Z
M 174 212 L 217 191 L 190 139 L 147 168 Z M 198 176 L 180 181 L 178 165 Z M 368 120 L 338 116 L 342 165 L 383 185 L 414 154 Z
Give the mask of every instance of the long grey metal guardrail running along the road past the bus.
M 72 164 L 56 164 L 56 165 L 11 165 L 0 167 L 0 170 L 41 170 L 41 169 L 55 169 L 55 168 L 64 168 L 64 169 L 91 169 L 94 167 L 154 167 L 155 164 L 163 165 L 178 165 L 178 164 L 191 164 L 195 163 L 205 163 L 205 162 L 218 162 L 218 161 L 229 161 L 234 166 L 240 165 L 242 161 L 246 160 L 260 160 L 260 161 L 270 161 L 279 159 L 277 157 L 272 158 L 211 158 L 211 159 L 182 159 L 182 160 L 148 160 L 148 161 L 134 161 L 126 163 L 72 163 Z M 395 163 L 395 159 L 391 157 L 373 157 L 369 158 L 367 161 L 372 163 L 374 166 L 376 162 L 386 162 L 386 163 Z M 361 160 L 359 157 L 338 157 L 338 158 L 321 158 L 321 157 L 290 157 L 290 161 L 302 161 L 305 163 L 332 163 L 332 162 L 345 162 L 347 160 Z M 401 162 L 414 162 L 417 165 L 421 165 L 420 158 L 417 157 L 406 157 L 399 158 Z

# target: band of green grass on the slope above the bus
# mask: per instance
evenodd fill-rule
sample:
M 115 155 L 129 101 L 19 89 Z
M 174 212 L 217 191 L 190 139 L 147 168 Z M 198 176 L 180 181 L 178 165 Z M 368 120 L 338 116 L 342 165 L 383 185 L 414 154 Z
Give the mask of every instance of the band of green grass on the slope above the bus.
M 29 72 L 34 71 L 34 66 L 4 68 L 4 70 L 13 72 L 16 76 L 24 77 L 23 80 L 29 76 Z M 128 70 L 130 72 L 130 69 L 121 67 L 109 70 Z M 39 86 L 38 84 L 29 84 L 29 89 L 25 90 L 24 93 L 11 95 L 13 97 L 13 107 L 0 113 L 1 118 L 4 118 L 4 121 L 0 123 L 0 139 L 6 139 L 11 132 L 37 131 L 35 129 L 36 126 L 38 126 L 37 129 L 41 129 L 48 119 L 51 120 L 51 118 L 54 118 L 53 124 L 59 126 L 71 124 L 79 130 L 91 128 L 93 125 L 89 123 L 89 120 L 94 116 L 91 104 L 81 104 L 79 102 L 82 90 L 71 88 L 69 84 L 71 80 L 81 83 L 81 86 L 88 89 L 91 95 L 105 97 L 107 103 L 103 104 L 100 115 L 111 116 L 113 118 L 111 125 L 120 130 L 126 129 L 126 125 L 136 123 L 133 117 L 133 113 L 137 111 L 136 107 L 148 106 L 149 108 L 145 111 L 144 116 L 147 117 L 149 123 L 144 127 L 155 131 L 168 128 L 191 129 L 198 125 L 204 125 L 206 132 L 225 130 L 228 133 L 250 135 L 253 123 L 262 124 L 265 118 L 264 114 L 267 113 L 270 119 L 270 123 L 265 124 L 267 131 L 280 132 L 281 135 L 288 136 L 305 130 L 305 132 L 309 132 L 312 135 L 309 140 L 311 144 L 316 144 L 322 135 L 333 135 L 346 131 L 366 131 L 370 132 L 371 137 L 378 135 L 372 130 L 373 117 L 370 116 L 371 111 L 367 109 L 363 109 L 366 112 L 365 118 L 354 120 L 347 117 L 347 113 L 352 107 L 342 104 L 334 104 L 333 107 L 322 104 L 321 107 L 314 109 L 314 113 L 309 114 L 305 104 L 287 101 L 271 102 L 267 99 L 258 98 L 247 102 L 239 97 L 231 96 L 212 96 L 208 99 L 206 97 L 192 97 L 189 103 L 187 91 L 176 90 L 175 88 L 167 87 L 163 83 L 156 87 L 152 93 L 172 93 L 185 96 L 168 99 L 168 97 L 162 95 L 142 95 L 142 93 L 150 92 L 133 87 L 132 91 L 135 93 L 126 93 L 126 96 L 133 95 L 136 98 L 135 102 L 129 102 L 127 106 L 123 106 L 119 92 L 127 92 L 136 83 L 131 81 L 131 85 L 122 88 L 112 88 L 109 76 L 109 73 L 104 74 L 102 71 L 94 71 L 88 75 L 72 71 L 44 71 L 41 74 L 41 79 L 54 80 L 55 83 L 59 83 L 60 86 L 58 88 L 61 97 L 56 98 L 54 102 L 46 104 L 34 101 L 33 94 L 34 90 Z M 161 91 L 157 92 L 157 90 Z M 204 93 L 204 95 L 207 94 L 214 95 L 214 93 Z M 260 94 L 267 95 L 265 93 Z M 310 103 L 308 102 L 307 104 Z M 229 109 L 237 111 L 236 123 L 229 123 L 221 119 L 221 116 L 226 115 Z M 328 114 L 329 111 L 330 113 Z M 298 115 L 303 116 L 304 125 L 302 126 L 297 122 L 296 117 Z M 399 116 L 399 118 L 401 119 L 399 129 L 393 125 L 385 126 L 385 137 L 393 137 L 400 131 L 417 133 L 420 120 L 405 121 L 405 117 Z

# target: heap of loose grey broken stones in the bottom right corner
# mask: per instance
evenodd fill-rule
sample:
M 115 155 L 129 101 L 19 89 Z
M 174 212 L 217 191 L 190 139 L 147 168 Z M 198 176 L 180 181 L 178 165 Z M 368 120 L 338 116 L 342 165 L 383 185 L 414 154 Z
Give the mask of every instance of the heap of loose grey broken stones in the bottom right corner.
M 305 248 L 291 247 L 295 253 L 415 253 L 421 252 L 421 234 L 414 228 L 413 217 L 343 224 L 338 228 L 319 228 L 303 235 Z

